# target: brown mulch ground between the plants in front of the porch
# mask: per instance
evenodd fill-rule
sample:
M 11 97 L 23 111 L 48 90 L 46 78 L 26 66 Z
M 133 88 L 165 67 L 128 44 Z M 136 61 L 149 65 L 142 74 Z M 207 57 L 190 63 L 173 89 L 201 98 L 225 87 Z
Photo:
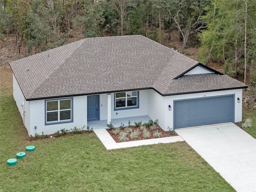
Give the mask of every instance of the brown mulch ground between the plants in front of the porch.
M 159 138 L 170 137 L 170 136 L 178 136 L 178 134 L 176 132 L 173 132 L 173 134 L 170 134 L 170 132 L 162 130 L 162 128 L 160 128 L 160 126 L 157 126 L 156 130 L 152 130 L 151 126 L 149 126 L 149 127 L 146 128 L 146 130 L 148 132 L 150 132 L 150 137 L 149 138 L 144 138 L 143 137 L 143 131 L 140 130 L 140 127 L 131 126 L 131 128 L 132 128 L 132 131 L 130 133 L 127 133 L 126 138 L 128 138 L 128 140 L 126 140 L 126 141 L 137 141 L 137 140 L 153 139 L 154 138 L 153 134 L 154 134 L 155 131 L 158 131 L 161 134 L 161 136 Z M 119 140 L 120 134 L 115 135 L 113 133 L 114 129 L 106 129 L 106 130 L 110 134 L 110 136 L 115 140 L 115 142 L 117 142 L 117 143 L 121 142 Z M 130 138 L 130 136 L 131 136 L 131 133 L 134 132 L 135 130 L 140 130 L 140 134 L 138 135 L 138 137 L 136 139 L 132 139 L 132 138 Z M 120 130 L 120 131 L 121 132 L 127 132 L 127 129 L 125 127 L 123 130 Z

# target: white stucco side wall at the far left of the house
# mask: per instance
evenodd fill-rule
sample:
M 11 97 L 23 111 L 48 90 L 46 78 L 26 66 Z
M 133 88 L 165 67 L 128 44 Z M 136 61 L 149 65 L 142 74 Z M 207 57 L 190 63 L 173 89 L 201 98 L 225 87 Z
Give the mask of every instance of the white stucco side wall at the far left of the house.
M 16 102 L 18 110 L 20 112 L 20 116 L 22 117 L 23 123 L 30 132 L 30 102 L 25 100 L 25 97 L 20 89 L 20 86 L 14 76 L 12 75 L 13 81 L 13 98 Z

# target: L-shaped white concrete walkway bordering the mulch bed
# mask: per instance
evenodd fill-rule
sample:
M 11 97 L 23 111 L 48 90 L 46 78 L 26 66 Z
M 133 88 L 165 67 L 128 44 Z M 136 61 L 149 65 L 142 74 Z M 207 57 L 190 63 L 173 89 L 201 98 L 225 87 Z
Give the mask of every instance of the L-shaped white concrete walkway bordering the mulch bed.
M 110 134 L 106 131 L 106 129 L 96 129 L 93 131 L 98 136 L 98 138 L 100 139 L 100 141 L 106 147 L 107 150 L 136 147 L 141 145 L 152 145 L 152 144 L 158 144 L 158 143 L 172 143 L 177 141 L 184 141 L 180 136 L 172 136 L 172 137 L 116 143 L 114 139 L 110 136 Z

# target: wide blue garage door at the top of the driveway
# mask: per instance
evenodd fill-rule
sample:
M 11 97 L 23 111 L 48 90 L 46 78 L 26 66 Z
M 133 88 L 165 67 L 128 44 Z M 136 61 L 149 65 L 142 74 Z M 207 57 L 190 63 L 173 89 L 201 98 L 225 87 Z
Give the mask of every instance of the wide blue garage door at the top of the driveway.
M 234 95 L 174 101 L 174 128 L 234 122 Z

